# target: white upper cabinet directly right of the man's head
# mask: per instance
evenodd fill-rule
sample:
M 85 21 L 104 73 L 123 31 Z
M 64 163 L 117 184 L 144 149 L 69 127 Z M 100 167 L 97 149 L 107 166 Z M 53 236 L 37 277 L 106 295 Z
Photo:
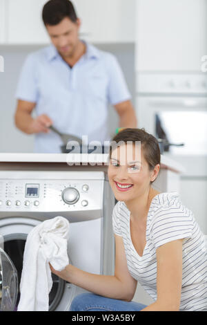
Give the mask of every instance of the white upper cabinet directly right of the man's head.
M 136 0 L 74 0 L 83 23 L 81 32 L 92 43 L 135 41 Z

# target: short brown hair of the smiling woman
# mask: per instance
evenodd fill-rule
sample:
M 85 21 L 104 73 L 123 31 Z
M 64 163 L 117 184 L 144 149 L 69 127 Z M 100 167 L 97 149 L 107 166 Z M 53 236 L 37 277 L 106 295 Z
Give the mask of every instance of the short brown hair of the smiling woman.
M 144 158 L 148 163 L 150 170 L 153 170 L 157 164 L 160 165 L 160 150 L 157 139 L 152 134 L 142 129 L 123 129 L 112 139 L 113 142 L 141 142 L 141 149 L 144 150 Z M 110 156 L 112 148 L 110 147 Z M 153 182 L 151 182 L 153 183 Z

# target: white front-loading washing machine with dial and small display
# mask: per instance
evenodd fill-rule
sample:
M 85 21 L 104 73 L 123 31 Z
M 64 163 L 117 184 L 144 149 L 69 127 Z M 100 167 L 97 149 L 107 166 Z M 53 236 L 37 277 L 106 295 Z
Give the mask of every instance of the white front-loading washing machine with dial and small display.
M 112 209 L 115 197 L 104 171 L 0 171 L 0 235 L 3 250 L 19 282 L 28 233 L 55 216 L 70 222 L 68 257 L 72 265 L 99 275 L 113 275 L 115 242 Z M 69 310 L 82 288 L 52 275 L 49 310 Z M 14 308 L 14 309 L 15 309 Z

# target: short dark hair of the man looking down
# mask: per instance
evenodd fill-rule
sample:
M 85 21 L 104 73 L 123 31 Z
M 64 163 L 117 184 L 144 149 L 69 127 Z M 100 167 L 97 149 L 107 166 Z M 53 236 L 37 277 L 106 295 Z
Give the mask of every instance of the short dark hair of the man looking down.
M 43 6 L 42 19 L 45 26 L 55 26 L 66 17 L 77 22 L 75 8 L 69 0 L 50 0 Z

